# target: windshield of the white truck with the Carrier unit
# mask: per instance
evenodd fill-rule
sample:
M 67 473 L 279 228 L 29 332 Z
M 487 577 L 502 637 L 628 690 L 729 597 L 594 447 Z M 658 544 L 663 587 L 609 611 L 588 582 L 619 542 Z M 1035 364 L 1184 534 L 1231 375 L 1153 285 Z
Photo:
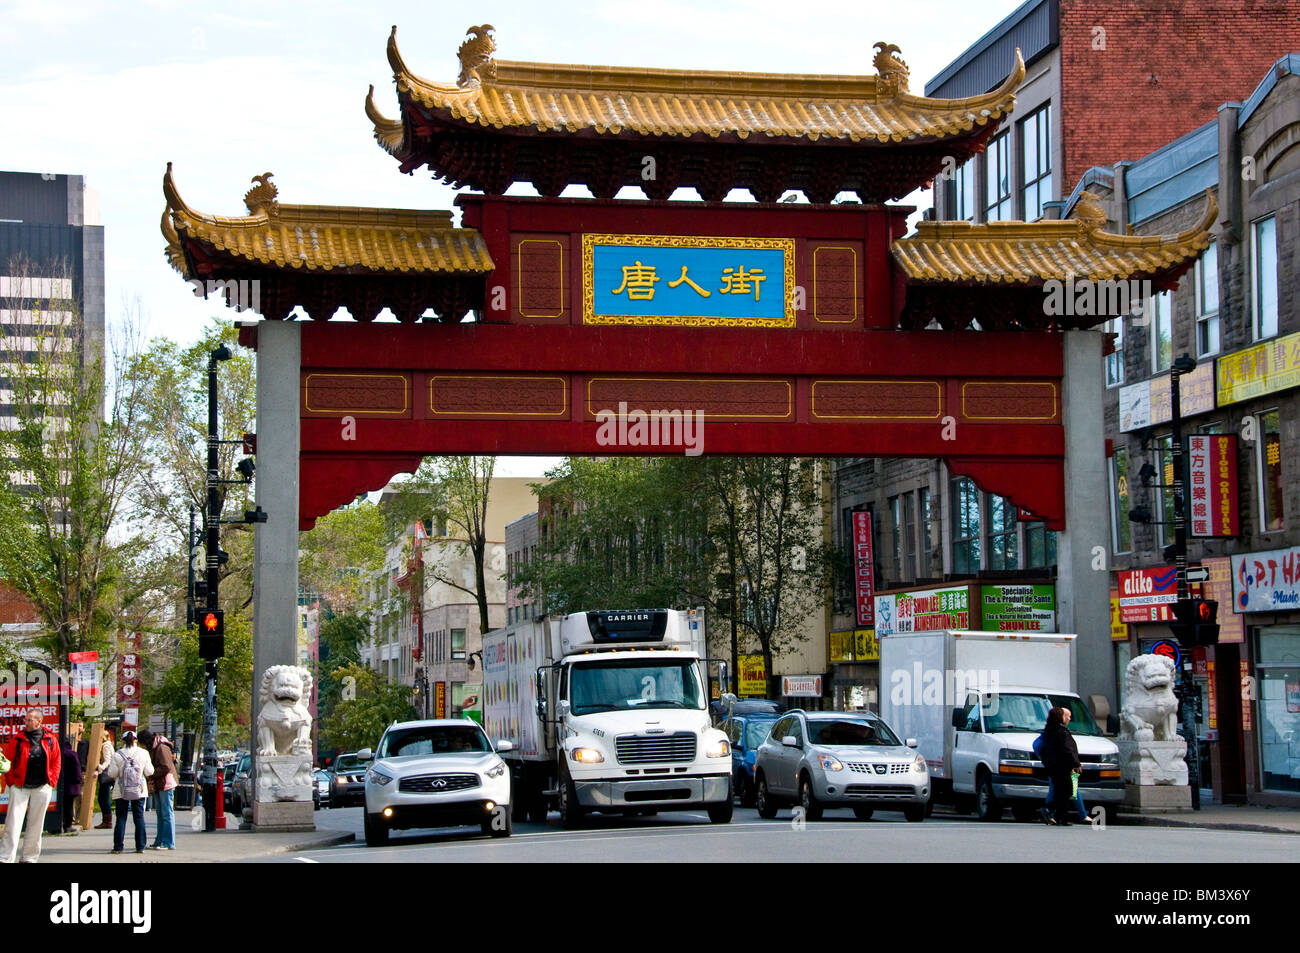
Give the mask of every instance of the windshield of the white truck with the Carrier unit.
M 628 659 L 576 664 L 569 690 L 575 715 L 633 709 L 705 707 L 696 663 L 685 659 Z

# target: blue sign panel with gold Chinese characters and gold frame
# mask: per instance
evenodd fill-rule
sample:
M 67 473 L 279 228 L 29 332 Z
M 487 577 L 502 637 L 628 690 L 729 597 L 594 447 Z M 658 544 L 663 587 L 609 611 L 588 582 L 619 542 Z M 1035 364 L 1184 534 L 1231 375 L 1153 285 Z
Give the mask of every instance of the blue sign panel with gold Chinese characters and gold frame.
M 794 239 L 584 235 L 584 324 L 794 326 Z

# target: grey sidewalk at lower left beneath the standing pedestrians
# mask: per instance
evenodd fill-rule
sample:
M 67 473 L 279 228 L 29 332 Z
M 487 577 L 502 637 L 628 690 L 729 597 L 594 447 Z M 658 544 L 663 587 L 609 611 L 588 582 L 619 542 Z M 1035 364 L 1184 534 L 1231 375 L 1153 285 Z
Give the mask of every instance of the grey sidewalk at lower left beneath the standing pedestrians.
M 226 814 L 226 829 L 204 833 L 190 828 L 190 811 L 176 814 L 176 850 L 146 850 L 135 853 L 135 828 L 126 822 L 126 837 L 121 854 L 113 849 L 112 831 L 81 831 L 69 835 L 47 833 L 40 841 L 40 863 L 221 863 L 238 862 L 252 857 L 276 854 L 285 850 L 312 850 L 334 844 L 344 844 L 355 835 L 344 831 L 306 831 L 302 833 L 255 833 L 240 831 L 239 819 Z M 148 837 L 153 842 L 157 815 L 144 815 Z M 95 815 L 99 820 L 99 814 Z

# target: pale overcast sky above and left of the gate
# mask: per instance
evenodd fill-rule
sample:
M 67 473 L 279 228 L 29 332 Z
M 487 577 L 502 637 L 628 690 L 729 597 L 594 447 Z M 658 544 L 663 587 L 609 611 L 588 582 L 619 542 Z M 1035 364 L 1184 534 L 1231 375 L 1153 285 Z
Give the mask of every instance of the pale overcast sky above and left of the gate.
M 109 321 L 138 299 L 150 333 L 192 341 L 225 308 L 195 299 L 164 259 L 169 160 L 185 200 L 216 215 L 246 215 L 250 178 L 266 170 L 286 203 L 451 208 L 426 169 L 398 172 L 363 109 L 373 83 L 398 114 L 394 23 L 407 66 L 441 82 L 455 81 L 465 29 L 489 22 L 500 60 L 668 69 L 870 74 L 887 40 L 922 92 L 1018 5 L 0 0 L 0 169 L 84 176 L 105 226 Z

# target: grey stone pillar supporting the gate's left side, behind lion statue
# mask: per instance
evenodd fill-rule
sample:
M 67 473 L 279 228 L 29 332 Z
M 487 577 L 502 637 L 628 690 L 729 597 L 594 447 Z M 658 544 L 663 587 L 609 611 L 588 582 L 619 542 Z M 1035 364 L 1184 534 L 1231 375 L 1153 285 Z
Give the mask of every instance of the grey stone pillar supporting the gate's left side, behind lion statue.
M 298 664 L 298 452 L 302 325 L 257 324 L 256 502 L 266 521 L 254 529 L 252 779 L 257 770 L 257 693 L 270 666 Z M 254 826 L 257 826 L 254 792 Z M 306 823 L 312 824 L 307 801 Z M 286 822 L 280 818 L 276 826 Z

